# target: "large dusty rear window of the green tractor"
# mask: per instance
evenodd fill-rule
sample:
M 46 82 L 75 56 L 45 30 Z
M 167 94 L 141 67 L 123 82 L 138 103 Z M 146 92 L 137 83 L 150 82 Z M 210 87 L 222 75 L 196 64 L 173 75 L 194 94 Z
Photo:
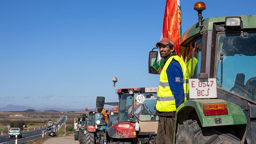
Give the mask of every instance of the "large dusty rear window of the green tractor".
M 256 101 L 256 33 L 218 34 L 217 87 Z

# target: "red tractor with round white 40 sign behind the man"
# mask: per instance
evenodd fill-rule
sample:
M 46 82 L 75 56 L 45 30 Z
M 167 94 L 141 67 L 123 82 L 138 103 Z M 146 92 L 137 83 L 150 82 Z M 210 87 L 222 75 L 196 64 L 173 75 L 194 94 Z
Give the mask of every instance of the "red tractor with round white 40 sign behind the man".
M 113 78 L 114 87 L 117 78 Z M 117 90 L 119 105 L 117 123 L 107 129 L 107 143 L 154 144 L 158 127 L 156 87 L 122 88 Z M 100 105 L 101 104 L 101 105 Z M 96 109 L 104 102 L 96 101 Z

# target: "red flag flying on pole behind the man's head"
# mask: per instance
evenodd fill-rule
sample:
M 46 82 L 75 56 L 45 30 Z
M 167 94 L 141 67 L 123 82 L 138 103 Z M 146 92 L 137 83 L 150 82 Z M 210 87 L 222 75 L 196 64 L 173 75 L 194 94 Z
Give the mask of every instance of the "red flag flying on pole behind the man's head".
M 161 38 L 170 38 L 174 42 L 174 50 L 180 56 L 180 38 L 181 38 L 181 7 L 180 0 L 166 0 L 164 23 Z M 160 52 L 157 54 L 157 64 L 163 65 L 163 59 Z

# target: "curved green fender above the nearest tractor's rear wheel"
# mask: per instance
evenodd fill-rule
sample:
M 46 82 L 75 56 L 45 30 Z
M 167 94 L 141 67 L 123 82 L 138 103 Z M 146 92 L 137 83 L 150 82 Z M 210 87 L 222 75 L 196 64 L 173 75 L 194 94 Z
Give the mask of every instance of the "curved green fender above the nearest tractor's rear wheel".
M 227 115 L 213 115 L 204 116 L 203 105 L 214 103 L 226 103 L 228 108 Z M 188 100 L 183 102 L 176 110 L 175 126 L 182 124 L 183 121 L 189 119 L 199 119 L 203 127 L 221 126 L 221 125 L 234 125 L 234 124 L 247 124 L 246 116 L 236 104 L 230 103 L 226 100 L 209 99 L 209 100 Z M 221 122 L 216 123 L 216 118 L 220 118 Z

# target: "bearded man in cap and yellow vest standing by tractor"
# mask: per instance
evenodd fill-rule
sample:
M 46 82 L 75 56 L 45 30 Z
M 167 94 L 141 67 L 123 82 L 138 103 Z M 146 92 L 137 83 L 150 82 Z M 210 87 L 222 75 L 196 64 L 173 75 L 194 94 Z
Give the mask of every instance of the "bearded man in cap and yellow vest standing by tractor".
M 159 117 L 156 144 L 171 144 L 175 112 L 187 92 L 187 68 L 174 51 L 174 42 L 170 38 L 161 39 L 156 46 L 164 58 L 156 99 L 156 115 Z

